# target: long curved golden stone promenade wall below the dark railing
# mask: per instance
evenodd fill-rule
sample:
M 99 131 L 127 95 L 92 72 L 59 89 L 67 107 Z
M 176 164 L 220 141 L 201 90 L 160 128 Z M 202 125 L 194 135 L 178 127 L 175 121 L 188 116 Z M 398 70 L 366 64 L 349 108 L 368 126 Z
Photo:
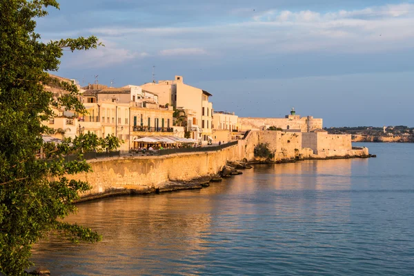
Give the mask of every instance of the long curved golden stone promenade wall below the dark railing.
M 168 181 L 189 181 L 219 172 L 227 161 L 243 159 L 239 146 L 215 152 L 192 152 L 160 157 L 121 157 L 90 161 L 92 172 L 73 177 L 88 181 L 92 189 L 82 197 L 117 193 L 117 190 L 153 192 Z M 68 177 L 70 178 L 70 177 Z

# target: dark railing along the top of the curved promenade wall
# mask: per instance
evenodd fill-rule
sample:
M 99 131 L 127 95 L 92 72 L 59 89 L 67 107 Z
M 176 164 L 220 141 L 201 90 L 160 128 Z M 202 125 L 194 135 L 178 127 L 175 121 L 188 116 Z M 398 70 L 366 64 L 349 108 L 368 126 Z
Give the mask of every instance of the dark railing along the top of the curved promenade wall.
M 230 146 L 237 145 L 238 141 L 229 142 L 217 146 L 204 146 L 197 148 L 166 148 L 164 150 L 117 150 L 110 152 L 84 152 L 83 158 L 86 160 L 99 159 L 99 158 L 118 158 L 118 157 L 134 157 L 134 156 L 164 156 L 174 155 L 177 153 L 188 153 L 188 152 L 206 152 L 206 151 L 217 151 Z M 74 161 L 77 159 L 77 155 L 67 155 L 66 161 Z

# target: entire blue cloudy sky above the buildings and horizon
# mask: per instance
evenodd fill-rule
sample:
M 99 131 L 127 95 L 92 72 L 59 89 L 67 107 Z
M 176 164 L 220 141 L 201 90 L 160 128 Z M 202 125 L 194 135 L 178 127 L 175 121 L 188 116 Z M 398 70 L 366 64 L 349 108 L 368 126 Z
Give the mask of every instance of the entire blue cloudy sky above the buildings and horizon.
M 97 36 L 55 74 L 121 87 L 184 77 L 217 111 L 414 126 L 414 1 L 61 0 L 43 41 Z

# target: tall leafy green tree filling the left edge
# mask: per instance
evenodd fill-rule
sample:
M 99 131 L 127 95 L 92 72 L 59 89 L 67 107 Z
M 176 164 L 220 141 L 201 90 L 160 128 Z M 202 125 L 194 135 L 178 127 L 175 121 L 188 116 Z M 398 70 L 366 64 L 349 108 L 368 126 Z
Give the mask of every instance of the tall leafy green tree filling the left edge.
M 22 275 L 30 263 L 32 245 L 51 230 L 75 240 L 97 241 L 99 235 L 62 221 L 75 211 L 72 204 L 90 186 L 65 175 L 88 172 L 83 150 L 116 148 L 116 138 L 96 135 L 64 138 L 61 144 L 43 142 L 53 130 L 42 121 L 53 117 L 51 106 L 85 113 L 77 87 L 53 79 L 63 49 L 88 50 L 100 45 L 96 37 L 42 42 L 34 32 L 35 19 L 59 8 L 55 0 L 0 1 L 0 271 Z M 67 91 L 59 99 L 43 89 L 55 83 Z M 75 153 L 78 159 L 65 162 Z

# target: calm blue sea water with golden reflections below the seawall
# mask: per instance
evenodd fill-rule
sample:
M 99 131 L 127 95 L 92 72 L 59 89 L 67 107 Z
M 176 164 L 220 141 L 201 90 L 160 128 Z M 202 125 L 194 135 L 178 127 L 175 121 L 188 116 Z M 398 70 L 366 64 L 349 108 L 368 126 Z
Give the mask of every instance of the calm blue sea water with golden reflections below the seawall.
M 259 165 L 209 188 L 79 204 L 97 244 L 51 237 L 52 275 L 414 275 L 414 144 Z

